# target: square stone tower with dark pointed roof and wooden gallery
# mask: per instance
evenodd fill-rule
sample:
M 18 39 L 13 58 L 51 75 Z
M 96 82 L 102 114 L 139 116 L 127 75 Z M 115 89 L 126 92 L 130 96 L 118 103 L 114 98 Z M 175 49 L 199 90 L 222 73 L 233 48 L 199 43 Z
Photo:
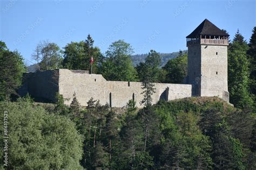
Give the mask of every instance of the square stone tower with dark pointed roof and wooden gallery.
M 228 34 L 205 19 L 187 38 L 186 81 L 194 96 L 218 96 L 228 102 Z

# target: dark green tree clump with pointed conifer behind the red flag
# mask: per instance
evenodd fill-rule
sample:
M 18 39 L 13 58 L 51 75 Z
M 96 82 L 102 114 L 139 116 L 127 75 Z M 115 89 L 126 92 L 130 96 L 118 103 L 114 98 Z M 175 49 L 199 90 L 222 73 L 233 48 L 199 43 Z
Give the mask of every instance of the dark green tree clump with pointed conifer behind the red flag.
M 93 47 L 94 40 L 88 34 L 85 41 L 70 42 L 64 47 L 63 68 L 91 70 L 90 59 L 93 57 L 92 72 L 98 72 L 99 60 L 102 54 L 98 47 Z

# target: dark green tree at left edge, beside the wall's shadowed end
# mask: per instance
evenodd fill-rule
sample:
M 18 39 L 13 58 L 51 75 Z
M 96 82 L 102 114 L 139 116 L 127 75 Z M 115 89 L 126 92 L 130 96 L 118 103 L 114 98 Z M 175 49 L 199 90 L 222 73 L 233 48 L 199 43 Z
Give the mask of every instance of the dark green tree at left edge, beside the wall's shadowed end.
M 24 59 L 17 51 L 9 51 L 3 41 L 0 46 L 0 101 L 10 101 L 11 95 L 18 95 L 16 90 L 25 72 Z

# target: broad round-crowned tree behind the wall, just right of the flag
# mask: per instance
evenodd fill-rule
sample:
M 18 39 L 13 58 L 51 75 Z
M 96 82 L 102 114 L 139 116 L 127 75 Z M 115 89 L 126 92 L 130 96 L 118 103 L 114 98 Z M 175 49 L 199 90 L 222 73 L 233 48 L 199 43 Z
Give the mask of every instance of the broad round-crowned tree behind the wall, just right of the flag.
M 114 41 L 106 51 L 103 62 L 100 63 L 100 73 L 107 80 L 137 81 L 137 72 L 130 58 L 132 53 L 131 45 L 124 40 Z

